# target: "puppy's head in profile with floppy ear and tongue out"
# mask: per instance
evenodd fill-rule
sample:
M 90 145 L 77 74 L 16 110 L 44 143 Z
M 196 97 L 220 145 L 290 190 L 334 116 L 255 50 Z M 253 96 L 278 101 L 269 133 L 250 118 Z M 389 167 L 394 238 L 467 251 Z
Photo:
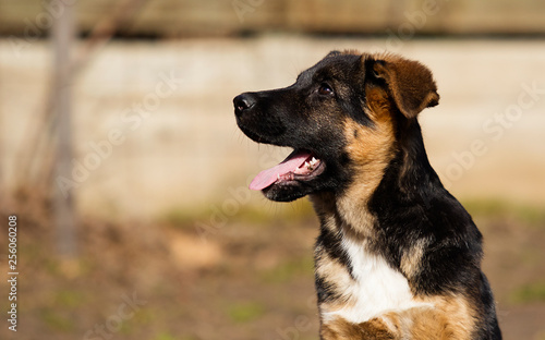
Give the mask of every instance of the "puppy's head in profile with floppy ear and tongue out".
M 384 170 L 400 149 L 400 131 L 438 99 L 432 73 L 421 63 L 353 51 L 330 52 L 289 87 L 239 95 L 234 112 L 244 134 L 294 149 L 250 187 L 289 202 L 340 193 L 356 175 L 380 175 L 375 170 Z

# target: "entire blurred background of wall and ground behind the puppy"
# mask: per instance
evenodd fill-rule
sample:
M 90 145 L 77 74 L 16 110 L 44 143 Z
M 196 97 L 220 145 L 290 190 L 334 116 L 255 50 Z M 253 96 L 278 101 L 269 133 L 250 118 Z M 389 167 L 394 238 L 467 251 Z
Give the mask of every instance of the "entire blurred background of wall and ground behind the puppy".
M 0 0 L 0 338 L 316 339 L 317 219 L 247 190 L 290 150 L 231 100 L 359 49 L 433 70 L 432 165 L 505 338 L 545 339 L 544 38 L 540 0 Z

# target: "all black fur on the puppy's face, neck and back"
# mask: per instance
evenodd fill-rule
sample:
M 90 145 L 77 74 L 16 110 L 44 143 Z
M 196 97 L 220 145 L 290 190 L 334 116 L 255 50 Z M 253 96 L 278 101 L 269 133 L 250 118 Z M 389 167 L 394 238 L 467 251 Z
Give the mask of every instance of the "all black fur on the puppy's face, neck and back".
M 316 179 L 274 184 L 264 190 L 272 201 L 293 201 L 308 194 L 337 199 L 353 183 L 356 169 L 346 151 L 343 122 L 350 119 L 374 129 L 365 113 L 365 86 L 386 88 L 365 56 L 334 51 L 302 72 L 295 84 L 280 89 L 245 93 L 234 98 L 237 123 L 258 143 L 312 151 L 326 165 Z M 329 92 L 332 89 L 332 92 Z M 436 104 L 436 102 L 435 102 Z M 395 107 L 395 106 L 393 106 Z M 462 294 L 477 306 L 474 339 L 501 339 L 494 299 L 481 271 L 482 235 L 471 216 L 443 186 L 429 165 L 416 118 L 393 110 L 396 150 L 378 187 L 368 201 L 375 217 L 370 250 L 401 269 L 403 254 L 425 244 L 419 269 L 405 275 L 414 295 Z M 358 130 L 353 132 L 358 136 Z M 348 221 L 334 211 L 337 226 Z M 322 221 L 316 260 L 327 254 L 352 271 L 341 247 L 342 235 Z M 348 226 L 350 227 L 350 226 Z M 335 282 L 316 276 L 318 303 L 340 299 Z

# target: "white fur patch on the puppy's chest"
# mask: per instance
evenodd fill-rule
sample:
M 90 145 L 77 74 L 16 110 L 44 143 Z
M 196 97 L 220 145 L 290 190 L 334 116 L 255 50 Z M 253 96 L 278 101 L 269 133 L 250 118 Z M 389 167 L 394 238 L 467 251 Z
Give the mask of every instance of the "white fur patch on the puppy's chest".
M 359 324 L 388 312 L 432 306 L 414 301 L 405 277 L 392 269 L 382 256 L 371 254 L 363 244 L 348 239 L 342 241 L 342 247 L 350 258 L 355 279 L 343 292 L 350 303 L 341 309 L 323 311 L 324 321 L 340 316 Z

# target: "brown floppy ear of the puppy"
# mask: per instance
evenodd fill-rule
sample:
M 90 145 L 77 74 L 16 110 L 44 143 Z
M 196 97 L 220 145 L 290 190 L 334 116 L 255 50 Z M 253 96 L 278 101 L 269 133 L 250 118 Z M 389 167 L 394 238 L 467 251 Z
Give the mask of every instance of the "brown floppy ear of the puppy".
M 398 56 L 375 59 L 373 73 L 383 78 L 401 113 L 415 118 L 425 108 L 439 104 L 432 72 L 417 61 Z

